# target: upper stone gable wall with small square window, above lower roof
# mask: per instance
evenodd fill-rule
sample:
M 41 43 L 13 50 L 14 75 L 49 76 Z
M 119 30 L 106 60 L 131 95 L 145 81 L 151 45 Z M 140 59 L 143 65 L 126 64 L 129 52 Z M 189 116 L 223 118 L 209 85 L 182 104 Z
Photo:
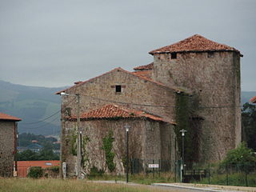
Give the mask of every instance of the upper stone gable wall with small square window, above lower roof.
M 122 92 L 115 92 L 115 85 L 122 86 Z M 88 82 L 66 90 L 69 94 L 81 95 L 81 113 L 94 110 L 106 104 L 126 106 L 135 110 L 146 110 L 166 121 L 174 119 L 174 90 L 157 83 L 138 78 L 123 70 L 113 70 Z M 62 114 L 70 108 L 76 114 L 76 98 L 62 96 Z M 167 107 L 161 107 L 167 106 Z

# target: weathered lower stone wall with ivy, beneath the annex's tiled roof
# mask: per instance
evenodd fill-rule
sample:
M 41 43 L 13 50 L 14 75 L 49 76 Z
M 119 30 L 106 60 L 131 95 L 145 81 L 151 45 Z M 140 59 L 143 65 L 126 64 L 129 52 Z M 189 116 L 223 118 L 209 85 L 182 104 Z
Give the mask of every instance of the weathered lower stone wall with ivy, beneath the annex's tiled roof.
M 96 167 L 106 174 L 124 174 L 126 161 L 126 130 L 129 130 L 129 156 L 130 158 L 143 159 L 145 163 L 158 162 L 164 159 L 170 162 L 174 155 L 174 146 L 170 142 L 173 126 L 164 122 L 154 122 L 146 119 L 101 119 L 82 121 L 82 164 L 83 170 L 90 174 L 90 169 Z M 106 164 L 106 151 L 103 150 L 103 139 L 112 132 L 114 153 L 114 171 L 110 171 Z M 68 177 L 75 175 L 76 155 L 72 154 L 72 147 L 76 137 L 76 122 L 66 122 L 66 144 L 62 149 L 63 161 L 67 162 Z M 169 135 L 166 135 L 168 133 Z M 164 147 L 162 147 L 164 146 Z M 171 163 L 171 162 L 170 162 Z M 146 169 L 146 164 L 144 165 Z

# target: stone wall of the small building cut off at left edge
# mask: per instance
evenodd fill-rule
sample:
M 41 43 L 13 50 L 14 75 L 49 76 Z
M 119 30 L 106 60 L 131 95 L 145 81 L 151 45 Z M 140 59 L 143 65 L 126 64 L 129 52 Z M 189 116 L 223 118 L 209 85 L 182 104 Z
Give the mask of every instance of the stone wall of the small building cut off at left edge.
M 0 122 L 0 177 L 12 177 L 15 122 Z

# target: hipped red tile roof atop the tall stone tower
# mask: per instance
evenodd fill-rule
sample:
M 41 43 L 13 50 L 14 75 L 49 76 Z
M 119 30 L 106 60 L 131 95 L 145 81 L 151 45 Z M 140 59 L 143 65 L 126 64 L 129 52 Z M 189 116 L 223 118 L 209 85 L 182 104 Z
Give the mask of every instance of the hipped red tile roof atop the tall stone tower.
M 239 50 L 234 49 L 234 47 L 226 46 L 218 42 L 213 42 L 199 34 L 194 34 L 190 38 L 186 38 L 170 46 L 163 46 L 157 50 L 152 50 L 149 52 L 149 54 L 203 51 L 235 51 L 242 57 L 242 54 L 240 54 Z

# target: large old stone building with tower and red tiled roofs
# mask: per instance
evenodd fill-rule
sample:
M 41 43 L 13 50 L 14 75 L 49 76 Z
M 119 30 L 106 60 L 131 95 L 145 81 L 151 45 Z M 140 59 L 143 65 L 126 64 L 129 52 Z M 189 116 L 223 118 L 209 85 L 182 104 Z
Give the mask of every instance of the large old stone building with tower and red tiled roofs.
M 68 173 L 74 173 L 72 162 L 77 159 L 70 153 L 72 133 L 77 129 L 75 114 L 78 103 L 75 95 L 80 99 L 82 135 L 90 138 L 83 147 L 86 150 L 84 154 L 88 156 L 87 162 L 82 164 L 89 172 L 92 166 L 109 171 L 104 158 L 106 152 L 101 149 L 102 139 L 110 130 L 114 138 L 116 171 L 123 171 L 121 159 L 125 124 L 134 129 L 131 139 L 141 151 L 135 153 L 134 158 L 157 157 L 170 161 L 170 167 L 180 157 L 179 130 L 187 130 L 186 162 L 217 162 L 241 141 L 242 54 L 238 50 L 196 34 L 150 51 L 150 54 L 154 56 L 154 62 L 135 67 L 134 72 L 116 68 L 85 82 L 75 82 L 74 86 L 57 93 L 70 95 L 62 96 L 62 162 L 70 166 Z M 117 107 L 135 112 L 129 117 L 119 114 L 104 116 L 107 105 L 112 110 Z M 102 111 L 102 116 L 89 115 L 98 110 Z M 131 114 L 144 116 L 138 119 Z M 154 130 L 154 141 L 147 130 Z M 152 146 L 158 147 L 158 154 L 153 155 L 146 150 Z M 98 148 L 97 155 L 95 147 Z

